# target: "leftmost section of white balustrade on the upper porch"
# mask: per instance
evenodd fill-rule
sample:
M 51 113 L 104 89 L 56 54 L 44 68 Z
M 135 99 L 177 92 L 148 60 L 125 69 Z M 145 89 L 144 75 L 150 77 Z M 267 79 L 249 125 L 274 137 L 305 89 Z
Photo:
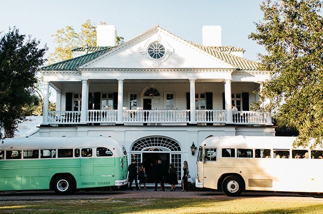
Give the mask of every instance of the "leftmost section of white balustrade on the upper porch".
M 76 124 L 80 122 L 81 112 L 54 111 L 48 112 L 49 124 Z

